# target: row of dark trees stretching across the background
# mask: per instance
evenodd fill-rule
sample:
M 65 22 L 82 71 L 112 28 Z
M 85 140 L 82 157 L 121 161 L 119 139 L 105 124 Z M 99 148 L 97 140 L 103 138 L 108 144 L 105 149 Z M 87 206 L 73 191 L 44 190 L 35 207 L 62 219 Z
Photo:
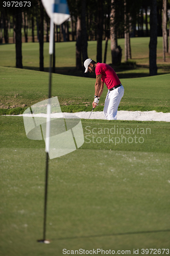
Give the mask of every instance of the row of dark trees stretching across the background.
M 96 40 L 96 61 L 106 62 L 108 40 L 111 42 L 112 64 L 122 61 L 122 48 L 117 38 L 125 38 L 125 61 L 131 59 L 130 38 L 150 36 L 150 75 L 157 74 L 157 36 L 163 37 L 163 58 L 170 53 L 168 44 L 167 10 L 170 0 L 67 0 L 70 18 L 60 26 L 54 25 L 54 44 L 60 41 L 76 41 L 76 68 L 83 69 L 88 58 L 88 40 Z M 13 28 L 13 42 L 16 46 L 16 67 L 22 68 L 21 28 L 28 42 L 28 29 L 32 31 L 32 41 L 39 41 L 40 71 L 43 67 L 43 42 L 49 41 L 50 18 L 40 0 L 32 0 L 32 7 L 19 10 L 1 7 L 0 42 L 9 42 L 9 28 Z M 169 26 L 170 28 L 170 26 Z M 105 40 L 104 58 L 102 41 Z M 169 45 L 169 46 L 168 46 Z M 55 52 L 53 56 L 55 72 Z

